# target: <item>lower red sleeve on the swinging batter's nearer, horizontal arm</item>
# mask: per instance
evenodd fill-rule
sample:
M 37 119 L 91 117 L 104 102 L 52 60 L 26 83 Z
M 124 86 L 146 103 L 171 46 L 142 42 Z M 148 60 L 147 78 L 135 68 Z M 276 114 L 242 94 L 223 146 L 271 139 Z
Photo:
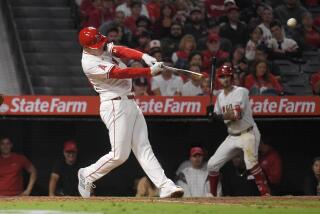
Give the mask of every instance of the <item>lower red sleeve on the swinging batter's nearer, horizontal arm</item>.
M 108 78 L 128 79 L 142 76 L 151 76 L 150 68 L 119 68 L 114 66 L 107 74 Z

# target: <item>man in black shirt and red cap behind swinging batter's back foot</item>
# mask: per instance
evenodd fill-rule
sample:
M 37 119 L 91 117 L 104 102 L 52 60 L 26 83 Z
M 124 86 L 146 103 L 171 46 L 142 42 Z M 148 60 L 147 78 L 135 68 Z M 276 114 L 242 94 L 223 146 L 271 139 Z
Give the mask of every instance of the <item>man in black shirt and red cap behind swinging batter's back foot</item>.
M 78 148 L 74 141 L 66 141 L 63 146 L 63 159 L 53 165 L 50 181 L 49 196 L 78 196 Z

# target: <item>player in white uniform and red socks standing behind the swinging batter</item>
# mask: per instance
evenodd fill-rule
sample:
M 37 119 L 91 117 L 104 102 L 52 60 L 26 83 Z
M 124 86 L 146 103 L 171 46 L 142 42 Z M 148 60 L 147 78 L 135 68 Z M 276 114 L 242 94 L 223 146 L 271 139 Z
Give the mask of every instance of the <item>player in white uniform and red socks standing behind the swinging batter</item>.
M 255 124 L 247 89 L 232 84 L 233 68 L 223 65 L 217 75 L 223 90 L 219 93 L 213 117 L 223 120 L 228 127 L 229 136 L 216 150 L 208 162 L 211 193 L 217 194 L 219 170 L 239 151 L 243 150 L 247 170 L 255 178 L 261 195 L 270 195 L 267 180 L 258 164 L 260 133 Z

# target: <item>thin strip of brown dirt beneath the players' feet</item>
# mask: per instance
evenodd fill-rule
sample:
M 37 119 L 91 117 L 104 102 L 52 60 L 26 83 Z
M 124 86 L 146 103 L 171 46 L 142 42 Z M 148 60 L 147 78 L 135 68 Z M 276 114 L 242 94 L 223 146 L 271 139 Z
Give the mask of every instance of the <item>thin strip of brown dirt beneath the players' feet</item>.
M 80 197 L 0 197 L 0 204 L 5 202 L 64 202 L 64 201 L 106 201 L 106 202 L 144 202 L 144 203 L 181 203 L 181 204 L 223 204 L 244 206 L 284 206 L 320 208 L 319 196 L 272 196 L 272 197 L 217 197 L 217 198 L 135 198 L 135 197 L 91 197 L 82 199 Z

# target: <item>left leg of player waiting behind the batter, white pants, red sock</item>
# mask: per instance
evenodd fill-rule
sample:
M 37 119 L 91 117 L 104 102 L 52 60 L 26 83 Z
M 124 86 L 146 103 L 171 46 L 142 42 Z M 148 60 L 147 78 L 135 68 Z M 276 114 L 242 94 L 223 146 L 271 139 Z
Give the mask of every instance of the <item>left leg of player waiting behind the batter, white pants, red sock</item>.
M 228 136 L 208 161 L 210 191 L 214 196 L 217 196 L 220 168 L 238 152 L 232 139 Z

